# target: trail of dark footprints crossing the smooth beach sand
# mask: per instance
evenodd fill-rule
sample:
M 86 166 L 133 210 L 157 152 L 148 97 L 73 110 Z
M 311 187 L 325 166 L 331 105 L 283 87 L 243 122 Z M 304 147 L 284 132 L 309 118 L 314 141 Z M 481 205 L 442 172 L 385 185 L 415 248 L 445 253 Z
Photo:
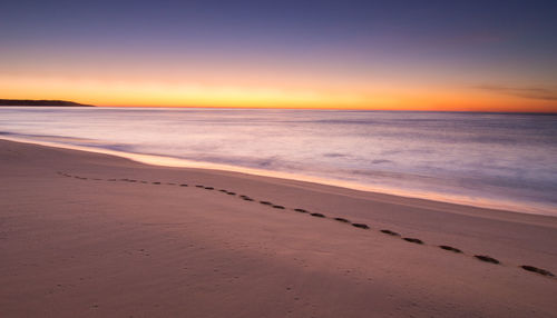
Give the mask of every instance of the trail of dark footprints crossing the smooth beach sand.
M 124 179 L 99 179 L 99 178 L 90 178 L 89 179 L 89 178 L 85 178 L 85 177 L 80 177 L 80 176 L 68 175 L 68 173 L 60 172 L 60 171 L 58 171 L 57 173 L 60 175 L 60 176 L 63 176 L 63 177 L 75 178 L 75 179 L 79 179 L 79 180 L 96 180 L 96 181 L 110 181 L 110 182 L 121 181 L 121 182 L 131 182 L 131 183 L 135 183 L 135 182 L 138 182 L 138 183 L 150 183 L 150 185 L 157 185 L 157 186 L 168 185 L 168 186 L 188 187 L 187 183 L 173 183 L 173 182 L 163 183 L 163 182 L 158 182 L 158 181 L 149 182 L 149 181 L 145 181 L 145 180 L 135 180 L 135 179 L 127 179 L 127 178 L 124 178 Z M 195 187 L 199 188 L 199 189 L 205 189 L 205 190 L 215 190 L 214 187 L 206 187 L 206 186 L 203 186 L 203 185 L 195 185 Z M 232 196 L 236 197 L 236 192 L 228 191 L 226 189 L 219 189 L 218 191 L 223 192 L 225 195 L 228 195 L 231 197 Z M 240 195 L 236 198 L 243 199 L 245 201 L 252 201 L 252 202 L 256 201 L 255 199 L 253 199 L 253 198 L 251 198 L 248 196 L 244 196 L 244 195 Z M 258 202 L 261 205 L 263 205 L 263 206 L 268 206 L 270 208 L 273 208 L 273 209 L 278 209 L 278 210 L 285 210 L 286 209 L 283 206 L 275 205 L 275 203 L 270 202 L 270 201 L 258 201 Z M 292 210 L 296 211 L 296 212 L 300 212 L 300 213 L 307 213 L 309 216 L 312 216 L 312 217 L 315 217 L 315 218 L 330 218 L 330 217 L 328 217 L 328 216 L 325 216 L 323 213 L 311 212 L 311 211 L 307 211 L 307 210 L 301 209 L 301 208 L 295 208 L 295 209 L 292 209 Z M 363 230 L 370 230 L 370 227 L 368 225 L 365 225 L 365 223 L 351 222 L 348 219 L 338 218 L 338 217 L 333 217 L 331 219 L 335 220 L 335 221 L 339 221 L 341 223 L 351 225 L 354 228 L 359 228 L 359 229 L 363 229 Z M 388 230 L 388 229 L 381 229 L 379 231 L 382 232 L 382 233 L 384 233 L 384 235 L 392 236 L 394 238 L 401 238 L 404 241 L 408 241 L 408 242 L 411 242 L 411 244 L 426 245 L 426 242 L 422 241 L 421 239 L 402 237 L 400 233 L 391 231 L 391 230 Z M 440 245 L 438 247 L 440 249 L 443 249 L 443 250 L 447 250 L 447 251 L 450 251 L 450 252 L 460 254 L 460 255 L 467 255 L 462 250 L 460 250 L 460 249 L 458 249 L 456 247 L 446 246 L 446 245 Z M 476 258 L 478 260 L 481 260 L 481 261 L 485 261 L 485 262 L 489 262 L 489 264 L 494 264 L 494 265 L 501 265 L 501 262 L 499 260 L 497 260 L 496 258 L 492 258 L 490 256 L 487 256 L 487 255 L 471 255 L 471 256 L 473 258 Z M 546 276 L 546 277 L 555 277 L 555 275 L 553 272 L 550 272 L 548 270 L 545 270 L 545 269 L 541 269 L 541 268 L 538 268 L 538 267 L 535 267 L 535 266 L 521 265 L 521 266 L 519 266 L 519 268 L 521 268 L 524 270 L 527 270 L 527 271 L 536 272 L 536 274 L 539 274 L 539 275 L 543 275 L 543 276 Z

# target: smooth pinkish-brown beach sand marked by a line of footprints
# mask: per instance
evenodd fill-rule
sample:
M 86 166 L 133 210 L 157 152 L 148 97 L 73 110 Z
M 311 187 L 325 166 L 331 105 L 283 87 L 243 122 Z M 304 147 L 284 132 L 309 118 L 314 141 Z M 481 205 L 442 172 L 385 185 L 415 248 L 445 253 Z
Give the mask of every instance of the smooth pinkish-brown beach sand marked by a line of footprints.
M 556 217 L 3 140 L 0 177 L 0 317 L 557 315 Z

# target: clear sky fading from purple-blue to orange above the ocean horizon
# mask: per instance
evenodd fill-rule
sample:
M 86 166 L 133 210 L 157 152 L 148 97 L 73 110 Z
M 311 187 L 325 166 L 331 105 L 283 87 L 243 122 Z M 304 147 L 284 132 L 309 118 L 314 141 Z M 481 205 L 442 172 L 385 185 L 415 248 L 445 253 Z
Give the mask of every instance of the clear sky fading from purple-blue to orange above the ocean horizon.
M 1 1 L 0 98 L 557 112 L 557 1 Z

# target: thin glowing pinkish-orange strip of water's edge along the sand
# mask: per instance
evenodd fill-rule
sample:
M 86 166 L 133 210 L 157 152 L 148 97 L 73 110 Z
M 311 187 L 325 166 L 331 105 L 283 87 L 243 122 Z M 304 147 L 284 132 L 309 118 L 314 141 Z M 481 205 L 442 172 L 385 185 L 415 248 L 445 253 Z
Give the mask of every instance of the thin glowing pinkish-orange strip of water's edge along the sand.
M 271 178 L 280 178 L 286 180 L 302 181 L 302 182 L 312 182 L 324 186 L 340 187 L 346 188 L 350 190 L 358 190 L 364 192 L 372 192 L 379 195 L 387 196 L 397 196 L 412 199 L 422 199 L 422 200 L 431 200 L 439 201 L 446 203 L 455 203 L 462 206 L 470 206 L 477 208 L 486 208 L 501 211 L 509 211 L 516 213 L 528 213 L 528 215 L 540 215 L 540 216 L 550 216 L 557 217 L 555 212 L 555 208 L 546 205 L 537 205 L 536 207 L 529 206 L 529 202 L 516 203 L 511 201 L 502 201 L 502 200 L 489 200 L 489 199 L 472 199 L 463 196 L 450 196 L 443 193 L 436 192 L 418 192 L 418 191 L 404 191 L 401 189 L 394 189 L 389 187 L 373 187 L 373 186 L 364 186 L 355 182 L 340 181 L 333 179 L 325 179 L 319 177 L 310 177 L 303 175 L 296 175 L 291 172 L 281 172 L 281 171 L 270 171 L 263 169 L 255 168 L 244 168 L 231 165 L 222 165 L 222 163 L 212 163 L 212 162 L 202 162 L 202 161 L 193 161 L 187 159 L 180 159 L 168 156 L 159 156 L 159 155 L 148 155 L 148 153 L 135 153 L 135 152 L 125 152 L 119 150 L 104 149 L 104 148 L 95 148 L 87 146 L 74 146 L 67 145 L 56 141 L 41 141 L 33 139 L 26 139 L 19 137 L 8 137 L 0 136 L 0 140 L 9 140 L 14 142 L 23 142 L 31 145 L 39 145 L 46 147 L 61 148 L 61 149 L 72 149 L 79 151 L 87 151 L 92 153 L 104 153 L 109 156 L 116 156 L 120 158 L 126 158 L 133 161 L 158 166 L 158 167 L 169 167 L 169 168 L 192 168 L 192 169 L 207 169 L 207 170 L 217 170 L 217 171 L 228 171 L 228 172 L 237 172 L 237 173 L 247 173 L 253 176 L 261 177 L 271 177 Z

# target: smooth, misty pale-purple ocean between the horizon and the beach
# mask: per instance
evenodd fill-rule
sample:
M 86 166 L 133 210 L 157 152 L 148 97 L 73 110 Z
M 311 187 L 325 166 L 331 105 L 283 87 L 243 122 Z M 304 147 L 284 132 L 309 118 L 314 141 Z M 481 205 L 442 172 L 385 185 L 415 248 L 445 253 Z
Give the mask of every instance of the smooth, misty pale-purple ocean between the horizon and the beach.
M 557 115 L 2 107 L 0 138 L 557 216 Z

